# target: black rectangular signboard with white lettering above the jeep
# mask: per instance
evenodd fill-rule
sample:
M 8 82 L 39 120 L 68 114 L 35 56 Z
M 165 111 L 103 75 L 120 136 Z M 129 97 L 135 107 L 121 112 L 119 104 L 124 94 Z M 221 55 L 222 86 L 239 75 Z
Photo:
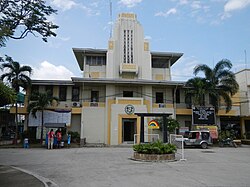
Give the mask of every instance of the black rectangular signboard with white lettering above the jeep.
M 214 125 L 215 110 L 213 107 L 193 107 L 193 125 Z

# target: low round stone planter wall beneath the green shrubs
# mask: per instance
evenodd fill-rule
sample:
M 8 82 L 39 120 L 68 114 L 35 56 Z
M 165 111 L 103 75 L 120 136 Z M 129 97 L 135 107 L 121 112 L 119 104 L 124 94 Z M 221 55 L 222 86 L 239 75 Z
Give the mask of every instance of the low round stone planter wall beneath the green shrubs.
M 134 159 L 143 161 L 173 161 L 175 160 L 175 154 L 143 154 L 134 152 Z

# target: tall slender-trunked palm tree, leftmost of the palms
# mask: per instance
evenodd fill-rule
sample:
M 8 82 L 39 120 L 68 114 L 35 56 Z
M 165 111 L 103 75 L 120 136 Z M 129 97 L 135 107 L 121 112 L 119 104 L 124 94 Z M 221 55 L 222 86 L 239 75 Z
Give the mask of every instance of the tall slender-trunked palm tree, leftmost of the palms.
M 16 95 L 20 91 L 20 87 L 26 90 L 31 86 L 31 79 L 29 75 L 32 72 L 32 68 L 30 66 L 21 66 L 19 62 L 14 61 L 11 57 L 5 57 L 6 63 L 1 64 L 0 68 L 2 70 L 7 69 L 7 73 L 1 75 L 1 80 L 7 80 L 11 87 L 15 90 Z M 18 134 L 18 110 L 17 110 L 17 99 L 16 99 L 16 134 L 15 134 L 15 143 L 17 143 L 17 134 Z

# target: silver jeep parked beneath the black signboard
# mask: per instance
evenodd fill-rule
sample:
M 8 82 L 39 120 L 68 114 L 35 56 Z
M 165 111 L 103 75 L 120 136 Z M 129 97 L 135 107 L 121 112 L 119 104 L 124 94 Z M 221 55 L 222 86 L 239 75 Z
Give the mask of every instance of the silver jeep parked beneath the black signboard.
M 212 138 L 209 131 L 197 130 L 186 133 L 187 137 L 184 138 L 184 146 L 196 146 L 202 149 L 207 149 L 211 146 Z

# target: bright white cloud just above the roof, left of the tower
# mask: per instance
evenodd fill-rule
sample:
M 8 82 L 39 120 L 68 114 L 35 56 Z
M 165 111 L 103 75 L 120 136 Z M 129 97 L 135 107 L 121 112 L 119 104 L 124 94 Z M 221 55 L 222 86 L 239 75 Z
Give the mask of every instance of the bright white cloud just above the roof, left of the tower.
M 33 67 L 32 79 L 41 80 L 68 80 L 74 74 L 64 66 L 55 66 L 48 61 L 40 63 L 39 67 Z

